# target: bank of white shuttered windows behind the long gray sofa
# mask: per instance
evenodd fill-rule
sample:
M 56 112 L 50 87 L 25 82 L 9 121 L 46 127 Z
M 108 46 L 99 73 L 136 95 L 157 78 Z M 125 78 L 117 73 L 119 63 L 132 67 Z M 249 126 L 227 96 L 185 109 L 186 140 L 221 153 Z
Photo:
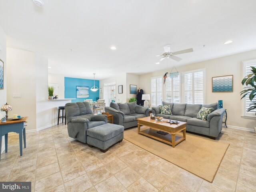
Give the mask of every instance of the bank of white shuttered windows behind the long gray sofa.
M 162 100 L 175 103 L 204 104 L 205 69 L 181 72 L 177 77 L 151 78 L 151 105 L 162 105 Z

